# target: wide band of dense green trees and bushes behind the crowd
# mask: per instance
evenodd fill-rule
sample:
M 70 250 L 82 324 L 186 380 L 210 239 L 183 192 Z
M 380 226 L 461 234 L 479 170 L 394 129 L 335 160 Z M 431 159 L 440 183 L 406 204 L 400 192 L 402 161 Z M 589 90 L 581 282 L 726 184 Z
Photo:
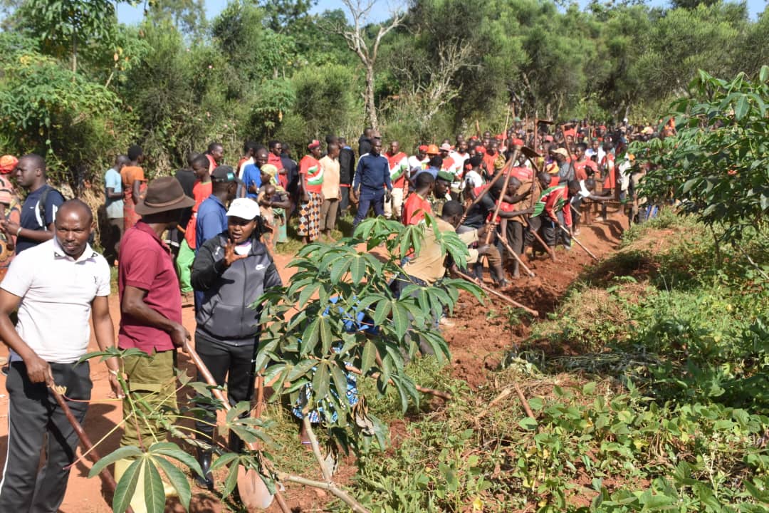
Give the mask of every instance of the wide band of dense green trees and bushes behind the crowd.
M 767 62 L 769 16 L 688 3 L 409 2 L 375 66 L 381 131 L 410 149 L 474 132 L 476 120 L 499 132 L 513 115 L 653 120 L 698 69 L 754 75 Z M 228 162 L 245 140 L 272 137 L 298 157 L 308 138 L 354 142 L 366 124 L 365 69 L 332 30 L 348 22 L 341 10 L 238 0 L 208 21 L 200 0 L 153 0 L 127 27 L 112 0 L 3 5 L 4 152 L 48 153 L 73 184 L 131 143 L 156 175 L 213 140 Z

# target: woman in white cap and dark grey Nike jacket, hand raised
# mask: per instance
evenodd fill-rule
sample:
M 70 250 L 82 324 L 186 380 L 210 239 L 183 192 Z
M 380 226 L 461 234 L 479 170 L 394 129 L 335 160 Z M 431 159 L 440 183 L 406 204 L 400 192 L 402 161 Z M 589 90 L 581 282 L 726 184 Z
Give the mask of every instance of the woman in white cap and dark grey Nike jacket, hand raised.
M 251 305 L 281 277 L 267 248 L 258 240 L 259 206 L 249 198 L 233 200 L 227 211 L 227 232 L 206 241 L 192 264 L 191 283 L 203 299 L 195 314 L 195 349 L 218 385 L 227 378 L 231 405 L 250 401 L 254 392 L 256 348 L 259 341 L 261 308 Z M 198 373 L 198 381 L 205 381 Z M 198 435 L 211 444 L 216 422 L 214 408 L 207 418 L 196 422 Z M 231 451 L 241 450 L 241 440 L 230 434 Z M 211 449 L 198 449 L 198 462 L 205 479 L 198 484 L 213 488 Z

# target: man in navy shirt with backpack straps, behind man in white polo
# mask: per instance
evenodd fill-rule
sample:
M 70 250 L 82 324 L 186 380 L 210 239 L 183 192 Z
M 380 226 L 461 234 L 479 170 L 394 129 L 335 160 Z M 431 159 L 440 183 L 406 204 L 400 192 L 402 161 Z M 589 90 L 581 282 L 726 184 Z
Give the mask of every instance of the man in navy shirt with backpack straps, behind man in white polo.
M 21 222 L 8 222 L 6 232 L 16 235 L 16 254 L 49 241 L 54 235 L 56 211 L 64 196 L 48 185 L 45 159 L 30 153 L 18 159 L 14 170 L 16 183 L 27 191 L 22 205 Z

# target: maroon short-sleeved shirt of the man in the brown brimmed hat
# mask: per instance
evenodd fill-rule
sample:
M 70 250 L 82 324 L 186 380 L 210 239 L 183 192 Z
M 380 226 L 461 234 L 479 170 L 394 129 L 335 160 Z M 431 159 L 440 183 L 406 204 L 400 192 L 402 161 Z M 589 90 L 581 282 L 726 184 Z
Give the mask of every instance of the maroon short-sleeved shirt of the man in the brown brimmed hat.
M 120 242 L 118 291 L 120 301 L 126 286 L 147 291 L 144 302 L 149 308 L 181 324 L 181 292 L 171 252 L 158 235 L 143 221 L 123 235 Z M 118 331 L 118 347 L 138 348 L 151 354 L 174 348 L 171 335 L 123 314 Z

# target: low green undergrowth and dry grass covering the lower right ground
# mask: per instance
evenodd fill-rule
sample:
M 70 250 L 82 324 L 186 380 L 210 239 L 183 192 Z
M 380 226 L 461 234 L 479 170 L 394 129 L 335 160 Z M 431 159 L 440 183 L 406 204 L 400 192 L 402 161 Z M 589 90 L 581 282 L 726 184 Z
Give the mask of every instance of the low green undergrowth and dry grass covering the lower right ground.
M 488 386 L 418 363 L 454 400 L 361 465 L 371 511 L 766 511 L 766 281 L 736 251 L 714 265 L 691 218 L 666 213 L 626 240 Z M 746 248 L 764 272 L 766 247 Z

